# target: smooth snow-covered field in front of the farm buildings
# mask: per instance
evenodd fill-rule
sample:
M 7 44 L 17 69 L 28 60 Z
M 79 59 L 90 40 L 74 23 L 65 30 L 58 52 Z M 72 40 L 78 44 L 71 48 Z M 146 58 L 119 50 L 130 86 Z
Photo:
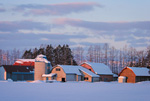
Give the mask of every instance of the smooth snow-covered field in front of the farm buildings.
M 150 82 L 0 81 L 0 101 L 150 101 Z

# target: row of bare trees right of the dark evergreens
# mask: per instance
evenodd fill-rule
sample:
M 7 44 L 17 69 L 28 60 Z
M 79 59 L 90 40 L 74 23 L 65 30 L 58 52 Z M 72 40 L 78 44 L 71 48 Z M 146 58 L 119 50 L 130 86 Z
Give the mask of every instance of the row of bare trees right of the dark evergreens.
M 119 73 L 125 66 L 146 67 L 150 65 L 150 47 L 147 50 L 136 50 L 124 46 L 118 50 L 108 44 L 92 45 L 84 50 L 83 47 L 73 49 L 73 55 L 78 64 L 82 62 L 104 63 L 113 73 Z

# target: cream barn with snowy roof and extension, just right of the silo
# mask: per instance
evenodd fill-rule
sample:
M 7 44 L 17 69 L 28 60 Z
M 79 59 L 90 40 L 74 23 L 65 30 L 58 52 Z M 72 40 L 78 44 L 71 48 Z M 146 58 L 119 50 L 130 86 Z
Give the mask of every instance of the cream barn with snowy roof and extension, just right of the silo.
M 85 69 L 81 66 L 71 66 L 71 65 L 57 65 L 53 67 L 51 74 L 48 76 L 49 80 L 56 79 L 57 81 L 88 81 L 97 82 L 99 81 L 99 76 L 93 72 Z M 50 75 L 51 75 L 50 74 Z M 43 77 L 46 75 L 43 75 Z

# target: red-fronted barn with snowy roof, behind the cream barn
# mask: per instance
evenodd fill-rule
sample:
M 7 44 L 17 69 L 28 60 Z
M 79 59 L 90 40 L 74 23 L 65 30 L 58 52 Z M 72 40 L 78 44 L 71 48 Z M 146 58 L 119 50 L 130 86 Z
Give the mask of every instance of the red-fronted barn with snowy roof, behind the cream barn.
M 82 63 L 81 66 L 99 75 L 101 81 L 113 81 L 112 71 L 103 63 L 85 62 Z

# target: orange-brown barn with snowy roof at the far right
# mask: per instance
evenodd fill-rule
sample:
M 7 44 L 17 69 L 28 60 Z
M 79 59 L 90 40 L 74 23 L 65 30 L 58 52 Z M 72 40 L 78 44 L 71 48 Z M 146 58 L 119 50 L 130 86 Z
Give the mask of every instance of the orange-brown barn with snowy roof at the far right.
M 127 83 L 136 83 L 140 81 L 150 80 L 150 70 L 146 67 L 125 67 L 119 76 L 124 76 Z M 122 79 L 122 78 L 120 78 Z M 122 81 L 119 80 L 118 81 Z

